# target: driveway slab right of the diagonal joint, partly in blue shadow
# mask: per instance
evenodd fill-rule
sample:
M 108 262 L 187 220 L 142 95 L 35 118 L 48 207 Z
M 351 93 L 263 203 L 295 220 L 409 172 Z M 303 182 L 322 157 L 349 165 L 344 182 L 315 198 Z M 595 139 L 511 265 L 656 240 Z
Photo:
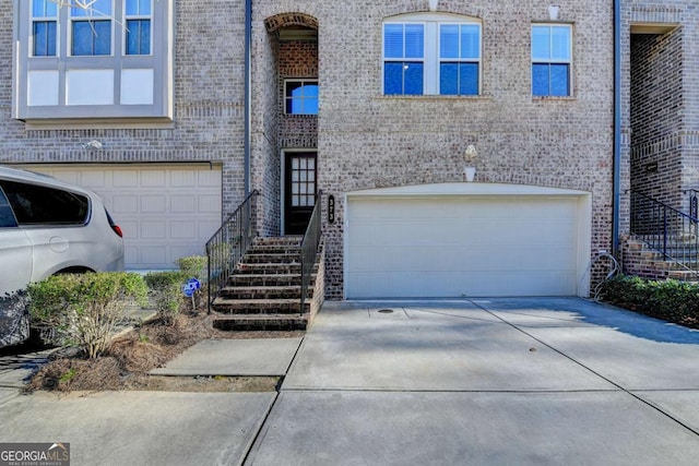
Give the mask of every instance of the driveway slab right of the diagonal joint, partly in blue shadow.
M 503 310 L 513 304 L 517 311 Z M 523 300 L 493 300 L 484 307 L 625 390 L 699 390 L 697 331 L 572 298 L 540 299 L 530 308 Z M 552 324 L 556 318 L 561 320 Z

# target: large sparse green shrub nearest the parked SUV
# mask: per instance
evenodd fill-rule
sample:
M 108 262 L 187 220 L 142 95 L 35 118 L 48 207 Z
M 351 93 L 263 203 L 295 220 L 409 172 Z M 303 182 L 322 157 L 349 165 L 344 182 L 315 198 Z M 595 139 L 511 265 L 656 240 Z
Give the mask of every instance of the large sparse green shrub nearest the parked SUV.
M 102 272 L 54 275 L 29 284 L 27 294 L 33 321 L 52 328 L 56 343 L 96 358 L 109 348 L 127 307 L 145 303 L 147 287 L 139 274 Z

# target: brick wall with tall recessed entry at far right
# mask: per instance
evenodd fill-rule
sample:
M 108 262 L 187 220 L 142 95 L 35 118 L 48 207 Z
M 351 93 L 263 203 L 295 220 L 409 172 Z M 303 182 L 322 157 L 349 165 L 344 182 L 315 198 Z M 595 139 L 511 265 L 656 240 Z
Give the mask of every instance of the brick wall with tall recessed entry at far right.
M 685 191 L 699 188 L 699 12 L 692 0 L 626 0 L 621 8 L 627 186 L 687 212 Z

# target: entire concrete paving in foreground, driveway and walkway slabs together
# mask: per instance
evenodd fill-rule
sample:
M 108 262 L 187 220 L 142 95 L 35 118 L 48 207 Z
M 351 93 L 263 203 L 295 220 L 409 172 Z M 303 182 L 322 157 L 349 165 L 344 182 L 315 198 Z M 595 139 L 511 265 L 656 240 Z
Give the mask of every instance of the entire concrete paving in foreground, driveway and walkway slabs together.
M 280 393 L 14 395 L 0 442 L 70 442 L 72 465 L 699 457 L 699 332 L 585 300 L 327 302 L 303 340 L 245 342 L 162 371 L 288 370 Z

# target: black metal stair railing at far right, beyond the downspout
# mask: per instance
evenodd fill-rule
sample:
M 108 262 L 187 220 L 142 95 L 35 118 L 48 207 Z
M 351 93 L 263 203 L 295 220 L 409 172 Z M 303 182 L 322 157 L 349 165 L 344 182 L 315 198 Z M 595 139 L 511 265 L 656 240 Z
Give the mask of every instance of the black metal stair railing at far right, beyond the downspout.
M 699 218 L 631 191 L 631 235 L 665 260 L 699 274 Z

